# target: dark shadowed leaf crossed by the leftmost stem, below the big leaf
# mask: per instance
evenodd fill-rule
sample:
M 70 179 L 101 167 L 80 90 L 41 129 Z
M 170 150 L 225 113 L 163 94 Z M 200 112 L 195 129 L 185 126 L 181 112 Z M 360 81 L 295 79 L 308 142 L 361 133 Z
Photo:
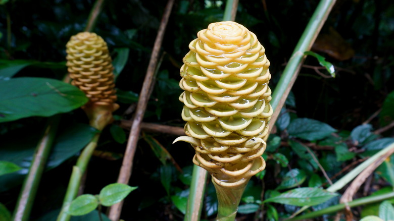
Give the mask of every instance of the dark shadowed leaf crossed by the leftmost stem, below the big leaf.
M 27 130 L 17 130 L 15 133 L 9 133 L 7 136 L 0 137 L 0 140 L 2 140 L 0 160 L 11 161 L 22 167 L 20 171 L 2 176 L 0 179 L 0 192 L 7 191 L 23 182 L 25 175 L 29 171 L 32 156 L 41 136 L 41 129 L 36 132 L 33 133 L 31 128 L 28 128 Z M 95 133 L 97 133 L 97 130 L 87 124 L 73 124 L 70 127 L 59 130 L 46 163 L 46 170 L 57 167 L 75 155 L 85 147 Z M 20 139 L 21 134 L 26 134 L 23 139 Z

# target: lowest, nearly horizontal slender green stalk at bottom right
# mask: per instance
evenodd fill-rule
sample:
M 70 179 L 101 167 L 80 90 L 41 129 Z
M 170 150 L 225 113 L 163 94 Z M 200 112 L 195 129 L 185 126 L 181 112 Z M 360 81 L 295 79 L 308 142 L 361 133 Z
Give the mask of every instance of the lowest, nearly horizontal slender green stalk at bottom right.
M 337 212 L 339 210 L 342 210 L 342 209 L 346 208 L 347 205 L 349 205 L 350 207 L 362 206 L 362 205 L 366 205 L 366 204 L 370 204 L 370 203 L 374 203 L 374 202 L 381 202 L 383 200 L 387 200 L 387 199 L 391 199 L 391 198 L 394 198 L 394 192 L 380 194 L 380 195 L 377 195 L 377 196 L 367 196 L 367 197 L 363 197 L 363 198 L 359 198 L 359 199 L 353 200 L 353 201 L 348 202 L 348 203 L 337 204 L 337 205 L 330 206 L 330 207 L 327 207 L 327 208 L 322 209 L 322 210 L 310 212 L 310 213 L 307 213 L 305 215 L 300 215 L 300 216 L 297 216 L 297 217 L 294 217 L 294 218 L 290 218 L 290 219 L 285 219 L 285 220 L 286 221 L 295 221 L 295 220 L 311 219 L 311 218 L 314 218 L 314 217 L 317 217 L 317 216 L 321 216 L 321 215 L 324 215 L 324 214 Z

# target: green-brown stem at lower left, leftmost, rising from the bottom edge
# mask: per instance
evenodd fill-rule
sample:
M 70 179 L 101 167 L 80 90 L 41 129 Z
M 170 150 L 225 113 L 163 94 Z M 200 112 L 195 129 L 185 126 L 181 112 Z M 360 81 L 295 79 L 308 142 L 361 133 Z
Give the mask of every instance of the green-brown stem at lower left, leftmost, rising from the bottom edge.
M 55 115 L 48 119 L 45 132 L 37 145 L 33 160 L 31 161 L 29 173 L 25 178 L 18 202 L 15 206 L 13 215 L 14 221 L 29 220 L 38 184 L 45 168 L 46 159 L 51 152 L 59 122 L 60 115 Z

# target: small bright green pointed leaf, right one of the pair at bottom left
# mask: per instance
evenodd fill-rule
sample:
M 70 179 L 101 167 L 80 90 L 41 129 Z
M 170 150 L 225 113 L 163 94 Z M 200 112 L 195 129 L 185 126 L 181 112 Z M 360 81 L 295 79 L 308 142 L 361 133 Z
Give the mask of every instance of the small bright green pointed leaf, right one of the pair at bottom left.
M 100 191 L 98 199 L 104 206 L 112 206 L 115 203 L 122 201 L 129 193 L 138 187 L 130 187 L 126 184 L 114 183 L 107 185 Z

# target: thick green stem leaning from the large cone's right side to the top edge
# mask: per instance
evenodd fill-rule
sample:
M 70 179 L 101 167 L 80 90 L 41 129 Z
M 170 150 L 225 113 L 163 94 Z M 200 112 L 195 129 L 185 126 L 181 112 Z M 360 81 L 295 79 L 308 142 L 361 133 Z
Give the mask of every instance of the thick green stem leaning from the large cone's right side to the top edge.
M 330 14 L 334 4 L 335 0 L 320 1 L 297 46 L 295 46 L 295 49 L 282 73 L 282 76 L 280 77 L 279 82 L 272 93 L 272 100 L 270 103 L 274 113 L 270 122 L 268 123 L 270 130 L 272 130 L 276 119 L 279 116 L 280 109 L 282 109 L 287 95 L 289 94 L 291 87 L 293 86 L 294 81 L 301 69 L 301 65 L 306 57 L 304 52 L 311 49 L 313 42 L 315 42 L 316 37 L 327 20 L 327 17 Z

